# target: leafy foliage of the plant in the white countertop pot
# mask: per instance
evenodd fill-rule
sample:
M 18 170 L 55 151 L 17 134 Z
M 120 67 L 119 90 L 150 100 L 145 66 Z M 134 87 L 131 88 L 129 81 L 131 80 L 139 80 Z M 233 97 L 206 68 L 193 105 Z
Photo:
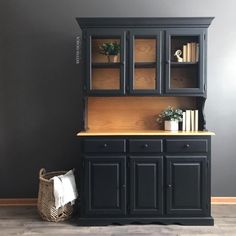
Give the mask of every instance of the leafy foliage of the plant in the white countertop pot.
M 181 109 L 174 109 L 169 106 L 164 111 L 162 111 L 157 118 L 157 122 L 162 124 L 165 120 L 169 121 L 182 121 L 183 111 Z

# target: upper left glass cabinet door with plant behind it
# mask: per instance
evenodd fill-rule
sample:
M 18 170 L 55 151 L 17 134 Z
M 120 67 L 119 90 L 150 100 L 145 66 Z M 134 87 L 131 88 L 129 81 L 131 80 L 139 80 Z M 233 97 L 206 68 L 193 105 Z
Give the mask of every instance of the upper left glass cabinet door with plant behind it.
M 112 54 L 104 55 L 102 47 L 108 45 Z M 109 46 L 112 44 L 113 46 Z M 112 49 L 113 47 L 113 49 Z M 114 49 L 115 48 L 115 49 Z M 119 29 L 88 30 L 86 37 L 86 87 L 89 94 L 125 93 L 125 32 Z

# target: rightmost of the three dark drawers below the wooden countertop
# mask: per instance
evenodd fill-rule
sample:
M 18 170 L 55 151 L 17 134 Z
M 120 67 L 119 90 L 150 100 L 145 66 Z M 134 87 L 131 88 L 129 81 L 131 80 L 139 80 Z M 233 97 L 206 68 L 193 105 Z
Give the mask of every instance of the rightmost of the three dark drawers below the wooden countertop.
M 167 139 L 167 152 L 207 152 L 207 139 Z

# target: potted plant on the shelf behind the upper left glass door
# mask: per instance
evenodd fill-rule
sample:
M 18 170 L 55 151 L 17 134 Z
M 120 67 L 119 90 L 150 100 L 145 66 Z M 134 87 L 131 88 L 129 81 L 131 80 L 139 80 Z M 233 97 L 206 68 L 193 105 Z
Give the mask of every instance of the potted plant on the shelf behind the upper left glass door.
M 103 43 L 99 46 L 99 53 L 106 55 L 108 62 L 117 62 L 120 53 L 120 44 L 117 42 Z

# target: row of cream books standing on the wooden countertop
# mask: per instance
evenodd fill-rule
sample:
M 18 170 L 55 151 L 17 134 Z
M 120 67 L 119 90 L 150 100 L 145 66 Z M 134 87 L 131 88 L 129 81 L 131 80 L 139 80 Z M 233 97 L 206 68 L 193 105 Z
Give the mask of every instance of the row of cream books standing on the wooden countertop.
M 198 131 L 198 110 L 186 110 L 183 112 L 183 131 Z

